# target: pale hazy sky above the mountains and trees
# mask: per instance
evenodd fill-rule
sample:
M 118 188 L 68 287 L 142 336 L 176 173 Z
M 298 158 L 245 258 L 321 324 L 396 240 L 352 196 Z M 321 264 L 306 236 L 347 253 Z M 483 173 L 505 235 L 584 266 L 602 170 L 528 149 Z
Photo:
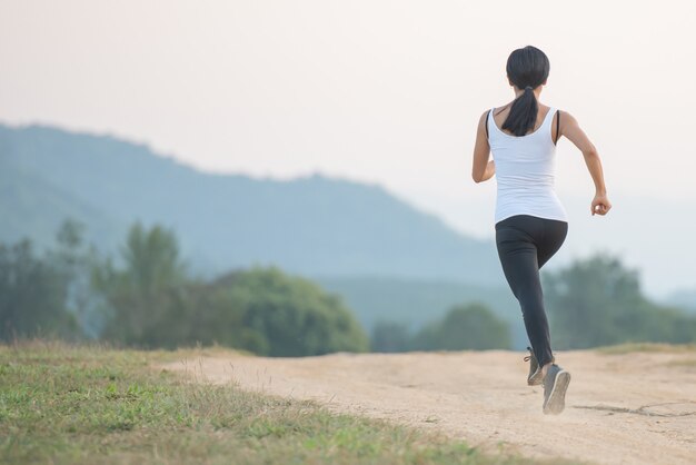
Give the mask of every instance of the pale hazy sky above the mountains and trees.
M 110 133 L 206 171 L 379 184 L 490 238 L 475 129 L 513 98 L 505 62 L 526 44 L 548 55 L 541 101 L 578 119 L 615 205 L 589 215 L 591 179 L 561 140 L 555 261 L 607 251 L 655 295 L 696 289 L 687 0 L 0 0 L 0 122 Z

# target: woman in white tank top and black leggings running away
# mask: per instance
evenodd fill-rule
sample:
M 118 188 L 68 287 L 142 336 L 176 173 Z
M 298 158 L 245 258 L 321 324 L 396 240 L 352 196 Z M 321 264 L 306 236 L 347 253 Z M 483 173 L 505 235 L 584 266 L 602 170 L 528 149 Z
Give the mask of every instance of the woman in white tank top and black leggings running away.
M 496 245 L 531 344 L 527 383 L 543 383 L 544 413 L 559 414 L 570 373 L 554 363 L 539 269 L 560 248 L 568 231 L 566 211 L 554 191 L 556 142 L 561 136 L 583 152 L 595 182 L 591 215 L 606 215 L 612 204 L 597 149 L 576 119 L 539 102 L 549 72 L 546 55 L 531 46 L 517 49 L 506 70 L 515 100 L 481 115 L 471 175 L 476 182 L 496 175 Z

